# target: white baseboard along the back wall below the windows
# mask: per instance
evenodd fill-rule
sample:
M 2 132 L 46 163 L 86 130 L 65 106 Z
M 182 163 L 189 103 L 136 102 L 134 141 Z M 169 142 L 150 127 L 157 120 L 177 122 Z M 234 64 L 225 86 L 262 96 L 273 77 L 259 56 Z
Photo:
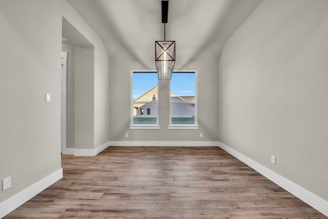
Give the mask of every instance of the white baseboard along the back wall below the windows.
M 117 141 L 110 142 L 110 146 L 217 146 L 218 142 L 167 142 L 167 141 Z

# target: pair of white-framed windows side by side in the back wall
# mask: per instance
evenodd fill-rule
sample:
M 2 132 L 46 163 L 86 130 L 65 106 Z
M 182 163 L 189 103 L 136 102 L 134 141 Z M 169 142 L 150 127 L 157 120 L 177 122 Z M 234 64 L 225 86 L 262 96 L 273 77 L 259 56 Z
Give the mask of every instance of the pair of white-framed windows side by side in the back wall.
M 169 129 L 198 129 L 196 78 L 196 71 L 176 71 L 163 91 L 170 92 Z M 132 71 L 131 88 L 130 129 L 159 129 L 157 72 Z

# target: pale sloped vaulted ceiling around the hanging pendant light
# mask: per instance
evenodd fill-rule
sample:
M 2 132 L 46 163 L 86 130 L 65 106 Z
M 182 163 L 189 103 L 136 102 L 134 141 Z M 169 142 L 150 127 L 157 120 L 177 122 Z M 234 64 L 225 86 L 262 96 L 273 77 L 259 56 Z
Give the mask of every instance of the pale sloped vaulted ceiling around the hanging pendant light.
M 68 0 L 103 40 L 111 60 L 126 52 L 154 69 L 164 39 L 160 0 Z M 176 41 L 176 68 L 218 59 L 229 36 L 262 0 L 170 0 L 166 39 Z

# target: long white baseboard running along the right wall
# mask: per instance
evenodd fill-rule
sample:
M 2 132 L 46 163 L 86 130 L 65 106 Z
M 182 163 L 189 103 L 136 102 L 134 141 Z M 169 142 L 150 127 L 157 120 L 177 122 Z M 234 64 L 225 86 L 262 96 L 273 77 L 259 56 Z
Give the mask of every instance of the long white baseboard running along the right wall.
M 262 166 L 261 164 L 253 161 L 251 158 L 239 153 L 238 151 L 230 148 L 223 143 L 218 143 L 219 147 L 223 150 L 227 151 L 238 160 L 242 161 L 243 163 L 247 164 L 248 166 L 252 167 L 257 172 L 261 173 L 265 177 L 269 178 L 272 182 L 276 183 L 283 189 L 289 191 L 296 197 L 298 197 L 303 202 L 307 203 L 308 205 L 312 206 L 313 208 L 317 209 L 324 215 L 328 216 L 328 202 L 320 198 L 319 196 L 309 192 L 308 190 L 300 187 L 299 185 L 293 183 L 292 181 L 282 177 L 281 175 L 273 172 L 272 170 L 268 169 L 267 167 Z

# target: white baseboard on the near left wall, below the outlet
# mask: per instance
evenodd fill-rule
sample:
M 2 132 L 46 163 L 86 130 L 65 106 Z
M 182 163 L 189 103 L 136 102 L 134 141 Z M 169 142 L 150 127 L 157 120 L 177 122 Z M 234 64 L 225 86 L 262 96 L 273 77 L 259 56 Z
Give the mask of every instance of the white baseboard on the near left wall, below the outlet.
M 57 170 L 56 172 L 45 177 L 43 180 L 38 181 L 32 186 L 10 197 L 8 200 L 0 203 L 0 218 L 6 216 L 20 205 L 23 205 L 32 197 L 60 180 L 60 178 L 63 178 L 63 169 Z

